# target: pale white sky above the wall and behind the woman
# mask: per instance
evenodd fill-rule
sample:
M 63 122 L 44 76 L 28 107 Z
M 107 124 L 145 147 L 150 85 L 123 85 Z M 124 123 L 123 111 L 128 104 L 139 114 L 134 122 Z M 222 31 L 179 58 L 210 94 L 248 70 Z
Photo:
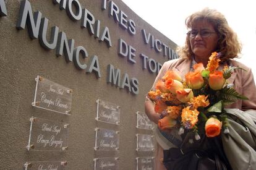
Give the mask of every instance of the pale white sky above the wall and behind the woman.
M 256 48 L 256 10 L 254 1 L 231 0 L 122 0 L 143 20 L 179 46 L 184 45 L 187 28 L 185 19 L 204 7 L 216 9 L 225 15 L 229 26 L 242 43 L 238 61 L 252 68 L 256 79 L 254 49 Z

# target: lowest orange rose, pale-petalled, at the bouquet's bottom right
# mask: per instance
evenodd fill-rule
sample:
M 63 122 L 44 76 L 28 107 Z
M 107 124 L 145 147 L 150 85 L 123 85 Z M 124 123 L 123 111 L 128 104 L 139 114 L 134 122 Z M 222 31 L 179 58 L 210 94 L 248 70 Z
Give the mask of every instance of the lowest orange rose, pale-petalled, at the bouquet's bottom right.
M 205 123 L 205 133 L 207 137 L 216 137 L 220 135 L 222 122 L 218 119 L 211 117 Z

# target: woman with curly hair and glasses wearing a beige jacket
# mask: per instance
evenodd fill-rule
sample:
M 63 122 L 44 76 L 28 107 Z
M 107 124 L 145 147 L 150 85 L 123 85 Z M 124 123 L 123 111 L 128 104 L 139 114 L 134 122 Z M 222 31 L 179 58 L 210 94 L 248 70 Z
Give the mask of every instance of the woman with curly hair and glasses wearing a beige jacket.
M 241 52 L 242 47 L 237 40 L 236 33 L 229 27 L 224 15 L 218 11 L 206 8 L 187 17 L 186 26 L 189 32 L 187 33 L 185 46 L 178 51 L 180 58 L 164 62 L 152 89 L 167 70 L 177 70 L 184 79 L 185 75 L 192 70 L 194 64 L 202 62 L 206 67 L 211 53 L 216 51 L 221 53 L 220 69 L 224 65 L 228 65 L 238 66 L 247 70 L 235 69 L 228 82 L 233 83 L 236 91 L 247 96 L 249 100 L 239 100 L 228 108 L 237 108 L 242 111 L 247 109 L 256 110 L 256 88 L 252 71 L 247 66 L 233 60 Z M 155 113 L 154 106 L 155 104 L 146 98 L 145 112 L 151 121 L 158 124 L 161 114 Z M 169 148 L 177 147 L 176 143 L 182 139 L 184 142 L 184 138 L 177 135 L 175 130 L 172 130 L 171 135 L 171 138 L 174 138 L 175 141 L 171 140 L 170 142 L 170 139 L 166 139 L 164 133 L 160 132 L 159 129 L 156 129 L 155 136 L 158 142 L 155 166 L 158 170 L 166 169 L 163 163 L 161 163 L 163 160 L 163 149 L 168 150 Z

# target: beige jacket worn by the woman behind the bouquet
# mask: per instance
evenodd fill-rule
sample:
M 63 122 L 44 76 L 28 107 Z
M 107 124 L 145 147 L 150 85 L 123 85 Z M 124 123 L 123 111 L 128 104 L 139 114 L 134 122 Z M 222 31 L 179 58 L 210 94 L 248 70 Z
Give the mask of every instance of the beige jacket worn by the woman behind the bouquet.
M 228 79 L 228 83 L 234 83 L 234 88 L 237 92 L 241 95 L 247 96 L 249 100 L 239 100 L 236 103 L 229 105 L 227 108 L 237 108 L 243 111 L 247 109 L 256 110 L 256 87 L 252 70 L 241 62 L 234 60 L 230 60 L 229 65 L 238 66 L 247 70 L 235 69 L 231 77 Z M 190 66 L 191 61 L 189 59 L 174 59 L 164 62 L 152 88 L 155 87 L 155 84 L 159 79 L 161 79 L 161 77 L 163 77 L 167 70 L 176 70 L 177 72 L 180 72 L 182 79 L 184 79 L 185 75 L 190 71 Z M 219 69 L 222 68 L 223 66 L 219 67 Z M 146 101 L 148 101 L 148 99 Z

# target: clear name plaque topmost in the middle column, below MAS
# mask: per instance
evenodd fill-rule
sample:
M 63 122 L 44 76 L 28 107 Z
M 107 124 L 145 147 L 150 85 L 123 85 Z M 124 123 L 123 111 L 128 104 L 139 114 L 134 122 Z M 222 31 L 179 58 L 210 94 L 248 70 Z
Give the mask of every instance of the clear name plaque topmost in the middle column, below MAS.
M 120 106 L 98 99 L 96 120 L 110 124 L 120 123 Z

